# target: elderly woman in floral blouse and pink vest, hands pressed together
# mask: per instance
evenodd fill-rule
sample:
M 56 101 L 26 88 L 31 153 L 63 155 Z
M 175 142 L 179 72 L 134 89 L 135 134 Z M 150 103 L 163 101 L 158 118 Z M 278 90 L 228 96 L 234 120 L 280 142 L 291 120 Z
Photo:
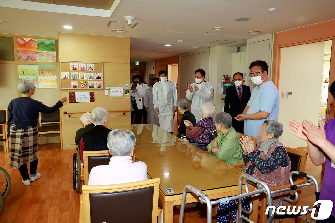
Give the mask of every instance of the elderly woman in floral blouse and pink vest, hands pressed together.
M 275 120 L 265 120 L 262 125 L 260 144 L 255 148 L 249 136 L 241 138 L 243 161 L 246 164 L 244 171 L 266 182 L 269 187 L 278 187 L 289 182 L 291 161 L 283 144 L 278 137 L 283 133 L 283 125 Z M 281 194 L 272 195 L 273 205 L 278 206 Z M 246 199 L 243 199 L 244 208 L 249 209 Z M 219 204 L 216 214 L 217 222 L 236 222 L 238 200 L 226 205 Z M 242 213 L 243 214 L 243 213 Z M 243 214 L 245 215 L 245 214 Z

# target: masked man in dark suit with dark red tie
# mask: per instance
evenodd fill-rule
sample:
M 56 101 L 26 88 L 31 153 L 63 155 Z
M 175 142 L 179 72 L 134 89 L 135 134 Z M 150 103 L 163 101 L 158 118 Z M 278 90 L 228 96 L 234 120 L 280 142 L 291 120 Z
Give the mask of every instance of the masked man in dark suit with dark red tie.
M 232 117 L 232 127 L 236 132 L 243 133 L 244 121 L 236 121 L 234 117 L 241 114 L 247 105 L 251 93 L 250 87 L 243 85 L 243 74 L 235 73 L 233 76 L 234 85 L 226 90 L 226 99 L 224 101 L 224 112 Z

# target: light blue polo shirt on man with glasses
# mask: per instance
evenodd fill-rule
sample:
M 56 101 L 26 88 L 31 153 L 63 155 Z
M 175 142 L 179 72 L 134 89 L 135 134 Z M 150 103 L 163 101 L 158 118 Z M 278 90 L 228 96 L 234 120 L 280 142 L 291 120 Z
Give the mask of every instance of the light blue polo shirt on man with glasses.
M 259 87 L 255 87 L 251 93 L 248 104 L 250 107 L 247 115 L 258 111 L 266 111 L 270 113 L 267 119 L 278 121 L 279 111 L 279 92 L 272 81 L 267 81 Z M 244 121 L 244 134 L 251 137 L 260 137 L 262 124 L 267 119 L 253 120 L 247 119 Z

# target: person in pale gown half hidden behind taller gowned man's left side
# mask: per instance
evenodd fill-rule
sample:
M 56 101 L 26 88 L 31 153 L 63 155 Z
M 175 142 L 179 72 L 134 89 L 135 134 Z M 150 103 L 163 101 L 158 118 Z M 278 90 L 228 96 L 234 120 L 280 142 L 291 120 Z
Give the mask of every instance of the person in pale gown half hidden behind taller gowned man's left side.
M 152 86 L 159 81 L 157 77 L 152 78 Z M 152 98 L 152 87 L 149 87 L 144 92 L 143 96 L 144 109 L 148 112 L 148 119 L 150 124 L 155 124 L 159 126 L 158 115 L 155 113 L 155 108 L 153 107 L 153 98 Z M 144 122 L 144 119 L 143 119 Z M 143 123 L 145 124 L 145 123 Z

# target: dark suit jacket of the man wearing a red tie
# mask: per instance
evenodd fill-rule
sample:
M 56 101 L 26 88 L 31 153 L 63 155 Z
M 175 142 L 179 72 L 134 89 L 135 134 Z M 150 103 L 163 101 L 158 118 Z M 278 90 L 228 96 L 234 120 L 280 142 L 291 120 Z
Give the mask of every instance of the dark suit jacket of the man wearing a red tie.
M 235 85 L 228 87 L 226 90 L 226 99 L 224 101 L 224 112 L 229 113 L 233 119 L 234 117 L 243 112 L 251 96 L 250 87 L 242 85 L 242 89 L 243 91 L 241 101 Z

